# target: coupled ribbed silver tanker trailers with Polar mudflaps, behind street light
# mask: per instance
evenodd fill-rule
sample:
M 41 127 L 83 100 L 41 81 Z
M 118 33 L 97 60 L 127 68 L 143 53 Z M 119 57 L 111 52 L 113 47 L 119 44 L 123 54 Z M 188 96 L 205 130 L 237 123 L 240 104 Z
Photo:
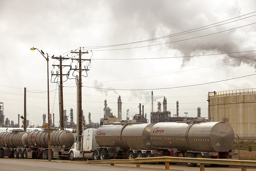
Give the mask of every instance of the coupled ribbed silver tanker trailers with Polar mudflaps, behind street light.
M 50 130 L 51 159 L 68 158 L 74 144 L 74 135 L 67 130 Z M 0 158 L 48 159 L 48 130 L 24 132 L 13 130 L 0 133 Z

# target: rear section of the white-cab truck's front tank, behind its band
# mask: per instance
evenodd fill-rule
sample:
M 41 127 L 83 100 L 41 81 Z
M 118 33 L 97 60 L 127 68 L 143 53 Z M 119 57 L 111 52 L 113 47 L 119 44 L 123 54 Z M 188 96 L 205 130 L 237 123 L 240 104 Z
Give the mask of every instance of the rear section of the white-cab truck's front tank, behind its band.
M 122 131 L 122 141 L 124 145 L 134 150 L 152 149 L 150 131 L 153 124 L 128 124 Z

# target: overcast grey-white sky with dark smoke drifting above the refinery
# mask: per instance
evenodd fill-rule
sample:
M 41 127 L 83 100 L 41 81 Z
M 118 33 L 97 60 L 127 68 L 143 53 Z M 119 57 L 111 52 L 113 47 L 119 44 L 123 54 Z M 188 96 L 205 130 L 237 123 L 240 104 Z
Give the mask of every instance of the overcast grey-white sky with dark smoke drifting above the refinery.
M 256 87 L 256 1 L 65 1 L 0 0 L 0 102 L 5 118 L 18 122 L 26 110 L 30 125 L 42 125 L 47 113 L 47 62 L 49 59 L 50 113 L 59 125 L 59 61 L 51 56 L 78 58 L 81 48 L 82 110 L 88 122 L 103 117 L 104 100 L 122 119 L 144 113 L 150 122 L 151 92 L 154 111 L 167 99 L 167 110 L 179 116 L 208 117 L 210 91 Z M 149 40 L 149 41 L 145 41 Z M 118 45 L 118 46 L 112 46 Z M 246 52 L 248 51 L 248 52 Z M 239 53 L 234 53 L 239 52 Z M 218 54 L 218 55 L 216 55 Z M 63 65 L 78 66 L 77 60 Z M 67 74 L 70 67 L 63 68 Z M 63 77 L 64 110 L 77 113 L 78 72 Z M 240 77 L 240 78 L 239 78 Z M 59 79 L 58 79 L 59 80 Z M 66 81 L 67 80 L 67 81 Z M 226 81 L 223 81 L 226 80 Z M 201 84 L 201 85 L 197 85 Z M 163 110 L 163 106 L 162 106 Z

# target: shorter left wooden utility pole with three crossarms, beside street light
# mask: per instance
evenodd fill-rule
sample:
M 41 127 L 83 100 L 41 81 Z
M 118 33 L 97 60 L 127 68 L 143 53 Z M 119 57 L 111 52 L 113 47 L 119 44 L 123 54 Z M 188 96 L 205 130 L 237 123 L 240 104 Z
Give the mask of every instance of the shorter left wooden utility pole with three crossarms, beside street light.
M 62 58 L 60 57 L 52 57 L 52 59 L 58 59 L 60 61 L 60 65 L 52 65 L 52 66 L 57 66 L 60 68 L 60 74 L 51 74 L 52 76 L 60 76 L 60 84 L 59 84 L 59 114 L 60 114 L 60 130 L 64 130 L 64 113 L 63 113 L 63 81 L 62 81 L 62 76 L 63 75 L 69 75 L 69 74 L 62 74 L 62 67 L 70 67 L 70 65 L 62 65 L 62 60 L 65 59 L 70 59 L 70 58 Z

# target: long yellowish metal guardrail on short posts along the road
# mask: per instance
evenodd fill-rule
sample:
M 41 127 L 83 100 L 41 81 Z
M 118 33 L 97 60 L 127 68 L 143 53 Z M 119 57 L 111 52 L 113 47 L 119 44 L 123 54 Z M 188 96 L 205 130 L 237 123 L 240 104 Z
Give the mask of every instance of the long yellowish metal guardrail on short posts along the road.
M 135 159 L 110 159 L 110 160 L 87 161 L 86 163 L 97 163 L 97 164 L 137 163 L 137 167 L 140 167 L 140 163 L 148 163 L 148 162 L 149 163 L 164 162 L 166 169 L 169 169 L 169 162 L 198 163 L 200 164 L 200 170 L 204 170 L 205 164 L 242 166 L 243 170 L 246 170 L 246 167 L 256 167 L 256 161 L 251 161 L 251 160 L 188 158 L 188 157 L 150 157 L 150 158 L 135 158 Z

